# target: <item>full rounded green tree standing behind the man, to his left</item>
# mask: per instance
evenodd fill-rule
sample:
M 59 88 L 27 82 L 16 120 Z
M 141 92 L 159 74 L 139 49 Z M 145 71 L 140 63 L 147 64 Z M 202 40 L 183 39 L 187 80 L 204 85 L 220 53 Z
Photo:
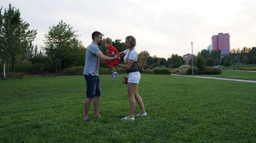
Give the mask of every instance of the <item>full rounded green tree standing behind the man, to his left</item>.
M 75 35 L 77 31 L 74 31 L 73 27 L 64 23 L 63 20 L 57 26 L 53 25 L 49 29 L 48 34 L 45 35 L 46 47 L 44 50 L 53 61 L 59 61 L 59 70 L 61 71 L 62 67 L 73 65 L 71 61 L 74 60 L 74 55 L 81 44 L 77 38 L 78 35 Z

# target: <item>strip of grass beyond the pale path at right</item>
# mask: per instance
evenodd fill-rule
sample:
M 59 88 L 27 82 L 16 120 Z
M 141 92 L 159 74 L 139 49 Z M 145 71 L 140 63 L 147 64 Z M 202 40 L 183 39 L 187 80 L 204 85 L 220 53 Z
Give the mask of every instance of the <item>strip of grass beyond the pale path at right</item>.
M 256 80 L 256 71 L 254 72 L 254 71 L 241 71 L 241 70 L 222 70 L 221 74 L 197 74 L 196 76 Z

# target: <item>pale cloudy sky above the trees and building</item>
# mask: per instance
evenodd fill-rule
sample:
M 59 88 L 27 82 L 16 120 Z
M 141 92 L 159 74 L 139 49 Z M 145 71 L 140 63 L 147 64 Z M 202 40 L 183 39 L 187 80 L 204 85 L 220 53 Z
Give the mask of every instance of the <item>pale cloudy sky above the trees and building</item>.
M 49 27 L 63 20 L 84 46 L 95 30 L 104 38 L 132 35 L 138 51 L 168 58 L 206 49 L 218 33 L 230 34 L 231 49 L 256 46 L 255 0 L 1 0 L 20 10 L 21 17 L 37 30 L 33 42 L 44 46 Z

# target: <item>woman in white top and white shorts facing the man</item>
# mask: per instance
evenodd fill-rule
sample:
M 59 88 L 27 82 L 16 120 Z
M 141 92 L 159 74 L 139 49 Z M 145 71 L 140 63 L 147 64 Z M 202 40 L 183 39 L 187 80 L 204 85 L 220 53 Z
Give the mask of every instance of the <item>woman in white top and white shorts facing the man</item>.
M 140 72 L 138 71 L 137 60 L 138 60 L 138 53 L 134 49 L 136 45 L 136 39 L 133 36 L 127 36 L 125 38 L 125 46 L 127 49 L 123 52 L 120 52 L 120 55 L 125 55 L 124 63 L 125 64 L 118 64 L 119 67 L 127 69 L 128 73 L 128 97 L 129 97 L 129 116 L 124 117 L 122 119 L 125 120 L 134 120 L 134 111 L 136 102 L 140 106 L 140 113 L 136 116 L 147 116 L 146 111 L 144 110 L 143 101 L 138 95 L 138 83 L 140 82 Z

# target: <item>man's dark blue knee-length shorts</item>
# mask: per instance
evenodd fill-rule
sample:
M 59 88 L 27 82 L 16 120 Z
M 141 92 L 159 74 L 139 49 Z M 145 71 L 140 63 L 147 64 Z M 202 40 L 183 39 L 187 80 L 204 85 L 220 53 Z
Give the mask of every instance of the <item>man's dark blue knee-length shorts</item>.
M 101 95 L 100 78 L 92 74 L 85 75 L 86 80 L 86 97 L 95 98 L 95 96 Z

